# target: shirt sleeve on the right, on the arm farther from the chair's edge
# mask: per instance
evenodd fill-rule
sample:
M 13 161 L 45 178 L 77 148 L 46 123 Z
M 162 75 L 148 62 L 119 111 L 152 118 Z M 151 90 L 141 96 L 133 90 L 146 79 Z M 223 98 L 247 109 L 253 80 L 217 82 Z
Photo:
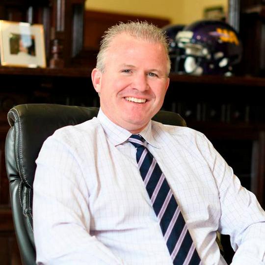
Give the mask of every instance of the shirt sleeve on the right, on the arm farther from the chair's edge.
M 205 140 L 203 154 L 210 161 L 220 198 L 219 232 L 230 235 L 236 251 L 232 265 L 265 265 L 265 212 L 256 196 L 241 186 L 232 168 Z

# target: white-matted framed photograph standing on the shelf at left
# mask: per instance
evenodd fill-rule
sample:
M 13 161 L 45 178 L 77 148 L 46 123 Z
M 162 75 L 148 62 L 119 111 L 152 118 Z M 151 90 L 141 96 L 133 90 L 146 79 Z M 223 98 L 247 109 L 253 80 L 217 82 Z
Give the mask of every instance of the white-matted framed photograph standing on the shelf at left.
M 1 65 L 46 67 L 43 25 L 0 20 Z

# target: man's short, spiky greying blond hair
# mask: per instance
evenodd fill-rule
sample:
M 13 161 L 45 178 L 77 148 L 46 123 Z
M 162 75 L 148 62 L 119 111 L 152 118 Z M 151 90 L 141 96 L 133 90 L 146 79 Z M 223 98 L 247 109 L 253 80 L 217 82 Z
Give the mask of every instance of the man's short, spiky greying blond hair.
M 159 27 L 154 26 L 153 24 L 149 24 L 146 21 L 137 21 L 137 22 L 128 22 L 109 27 L 102 37 L 100 51 L 97 56 L 97 69 L 99 69 L 102 73 L 105 70 L 105 58 L 106 52 L 110 46 L 111 41 L 117 35 L 121 33 L 127 33 L 131 36 L 142 39 L 150 43 L 161 43 L 165 48 L 166 59 L 167 59 L 167 75 L 170 72 L 170 58 L 168 55 L 168 42 L 166 39 L 165 32 L 162 31 Z

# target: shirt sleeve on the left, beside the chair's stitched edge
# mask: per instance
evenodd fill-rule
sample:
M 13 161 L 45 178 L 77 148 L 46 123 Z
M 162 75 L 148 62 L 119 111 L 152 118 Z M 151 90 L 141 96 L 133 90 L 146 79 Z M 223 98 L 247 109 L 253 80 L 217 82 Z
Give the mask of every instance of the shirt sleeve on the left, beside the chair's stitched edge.
M 125 264 L 90 236 L 89 194 L 78 159 L 48 138 L 36 160 L 33 228 L 37 264 Z

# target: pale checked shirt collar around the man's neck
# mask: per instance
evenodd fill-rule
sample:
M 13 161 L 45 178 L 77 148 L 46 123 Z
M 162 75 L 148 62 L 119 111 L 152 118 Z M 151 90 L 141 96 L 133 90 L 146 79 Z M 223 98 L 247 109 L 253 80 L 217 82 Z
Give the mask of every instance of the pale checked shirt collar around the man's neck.
M 127 131 L 126 129 L 118 126 L 117 124 L 113 123 L 102 111 L 100 108 L 98 116 L 99 122 L 101 123 L 104 132 L 106 133 L 106 137 L 108 140 L 114 145 L 117 146 L 122 144 L 123 142 L 127 141 L 128 138 L 132 135 L 131 132 Z M 154 139 L 152 133 L 152 121 L 148 123 L 148 125 L 144 128 L 142 132 L 139 133 L 149 144 L 156 148 L 159 147 L 159 143 Z

